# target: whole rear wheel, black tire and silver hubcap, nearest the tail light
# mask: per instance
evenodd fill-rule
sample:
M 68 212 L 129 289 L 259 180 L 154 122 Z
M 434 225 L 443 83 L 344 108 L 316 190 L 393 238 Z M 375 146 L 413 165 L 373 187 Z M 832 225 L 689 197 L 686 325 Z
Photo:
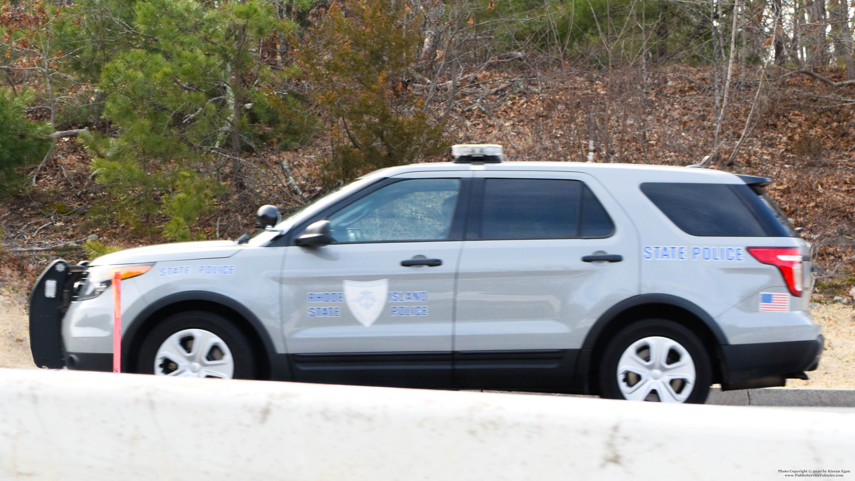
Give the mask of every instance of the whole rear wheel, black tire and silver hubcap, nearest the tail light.
M 703 404 L 711 383 L 704 344 L 666 319 L 646 319 L 618 332 L 599 364 L 600 395 L 606 399 Z

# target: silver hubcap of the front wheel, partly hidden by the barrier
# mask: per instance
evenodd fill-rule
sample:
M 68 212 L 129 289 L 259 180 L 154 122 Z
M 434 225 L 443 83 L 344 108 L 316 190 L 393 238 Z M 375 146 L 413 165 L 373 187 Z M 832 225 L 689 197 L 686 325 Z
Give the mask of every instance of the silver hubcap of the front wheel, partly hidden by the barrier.
M 169 336 L 157 349 L 155 374 L 231 379 L 234 359 L 220 336 L 208 330 L 186 329 Z

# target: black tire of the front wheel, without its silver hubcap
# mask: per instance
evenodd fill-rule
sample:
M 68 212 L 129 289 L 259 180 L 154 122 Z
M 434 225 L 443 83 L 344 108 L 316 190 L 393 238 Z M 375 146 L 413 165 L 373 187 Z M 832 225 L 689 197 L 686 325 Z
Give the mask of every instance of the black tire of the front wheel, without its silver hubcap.
M 230 320 L 214 312 L 187 311 L 173 314 L 157 324 L 145 336 L 137 357 L 137 372 L 155 373 L 155 359 L 163 342 L 182 330 L 205 330 L 213 333 L 226 344 L 233 361 L 233 379 L 255 379 L 256 359 L 250 342 Z

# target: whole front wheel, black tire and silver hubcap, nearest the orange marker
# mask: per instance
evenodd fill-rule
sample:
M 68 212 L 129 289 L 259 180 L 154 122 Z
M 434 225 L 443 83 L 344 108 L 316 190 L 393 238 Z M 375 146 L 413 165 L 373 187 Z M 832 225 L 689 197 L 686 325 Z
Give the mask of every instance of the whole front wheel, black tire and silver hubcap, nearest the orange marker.
M 227 318 L 213 312 L 180 312 L 157 324 L 139 351 L 141 374 L 254 379 L 249 341 Z

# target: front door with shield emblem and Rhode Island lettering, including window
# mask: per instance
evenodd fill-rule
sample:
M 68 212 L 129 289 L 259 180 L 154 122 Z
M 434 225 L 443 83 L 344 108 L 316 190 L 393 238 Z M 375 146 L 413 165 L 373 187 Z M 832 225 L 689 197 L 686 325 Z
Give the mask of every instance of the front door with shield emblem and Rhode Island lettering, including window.
M 295 380 L 451 386 L 463 181 L 459 173 L 413 175 L 380 181 L 324 213 L 333 244 L 286 247 L 284 327 Z

